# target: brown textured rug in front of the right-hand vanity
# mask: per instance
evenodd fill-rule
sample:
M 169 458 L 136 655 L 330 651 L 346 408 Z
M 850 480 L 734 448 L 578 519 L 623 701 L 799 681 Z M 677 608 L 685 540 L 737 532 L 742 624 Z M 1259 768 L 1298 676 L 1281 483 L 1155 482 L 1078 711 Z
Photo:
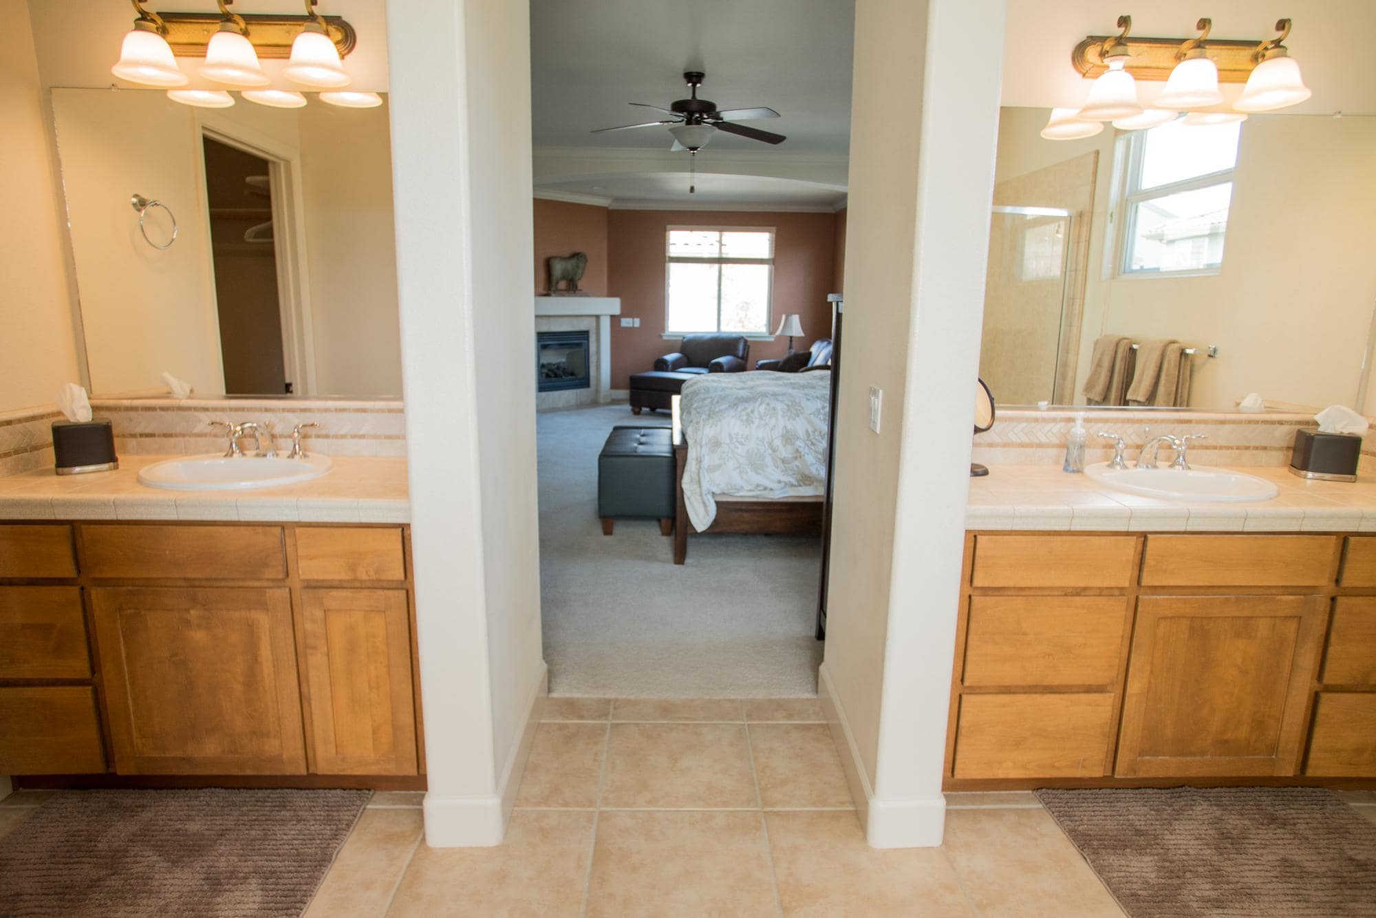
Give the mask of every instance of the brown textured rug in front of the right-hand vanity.
M 1376 824 L 1331 791 L 1036 796 L 1132 918 L 1376 915 Z

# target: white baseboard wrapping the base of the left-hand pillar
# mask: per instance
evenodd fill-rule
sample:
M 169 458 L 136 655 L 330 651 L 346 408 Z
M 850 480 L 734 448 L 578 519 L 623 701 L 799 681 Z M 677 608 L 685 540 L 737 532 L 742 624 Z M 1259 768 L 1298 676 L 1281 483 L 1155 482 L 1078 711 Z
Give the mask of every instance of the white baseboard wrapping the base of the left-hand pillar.
M 526 773 L 526 760 L 539 725 L 541 707 L 549 695 L 549 668 L 539 663 L 539 679 L 526 701 L 520 740 L 506 760 L 497 790 L 479 797 L 425 794 L 425 844 L 431 848 L 491 848 L 502 844 L 516 805 L 516 791 Z

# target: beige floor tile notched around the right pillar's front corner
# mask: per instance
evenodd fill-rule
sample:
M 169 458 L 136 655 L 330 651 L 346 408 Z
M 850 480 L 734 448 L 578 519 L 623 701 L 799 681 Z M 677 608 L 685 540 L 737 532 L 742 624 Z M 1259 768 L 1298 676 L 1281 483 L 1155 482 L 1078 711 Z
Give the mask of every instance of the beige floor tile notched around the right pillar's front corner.
M 854 813 L 765 813 L 786 915 L 973 915 L 940 848 L 878 849 Z

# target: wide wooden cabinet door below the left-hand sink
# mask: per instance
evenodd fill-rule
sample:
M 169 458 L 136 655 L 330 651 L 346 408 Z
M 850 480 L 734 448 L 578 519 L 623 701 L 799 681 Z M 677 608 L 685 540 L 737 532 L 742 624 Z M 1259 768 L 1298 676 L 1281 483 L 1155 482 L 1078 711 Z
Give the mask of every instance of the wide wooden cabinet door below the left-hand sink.
M 100 588 L 92 604 L 117 772 L 305 773 L 285 588 Z

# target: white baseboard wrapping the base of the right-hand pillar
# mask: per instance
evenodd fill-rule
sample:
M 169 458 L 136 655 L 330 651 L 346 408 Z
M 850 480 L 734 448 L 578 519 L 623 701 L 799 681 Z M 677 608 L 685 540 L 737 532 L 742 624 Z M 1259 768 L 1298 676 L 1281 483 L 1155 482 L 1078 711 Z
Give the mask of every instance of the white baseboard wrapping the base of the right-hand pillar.
M 883 800 L 877 797 L 866 773 L 860 747 L 827 665 L 817 672 L 817 698 L 831 727 L 831 738 L 841 753 L 841 765 L 856 801 L 856 815 L 864 827 L 871 848 L 938 848 L 945 833 L 945 797 L 938 790 L 934 797 L 912 800 Z

